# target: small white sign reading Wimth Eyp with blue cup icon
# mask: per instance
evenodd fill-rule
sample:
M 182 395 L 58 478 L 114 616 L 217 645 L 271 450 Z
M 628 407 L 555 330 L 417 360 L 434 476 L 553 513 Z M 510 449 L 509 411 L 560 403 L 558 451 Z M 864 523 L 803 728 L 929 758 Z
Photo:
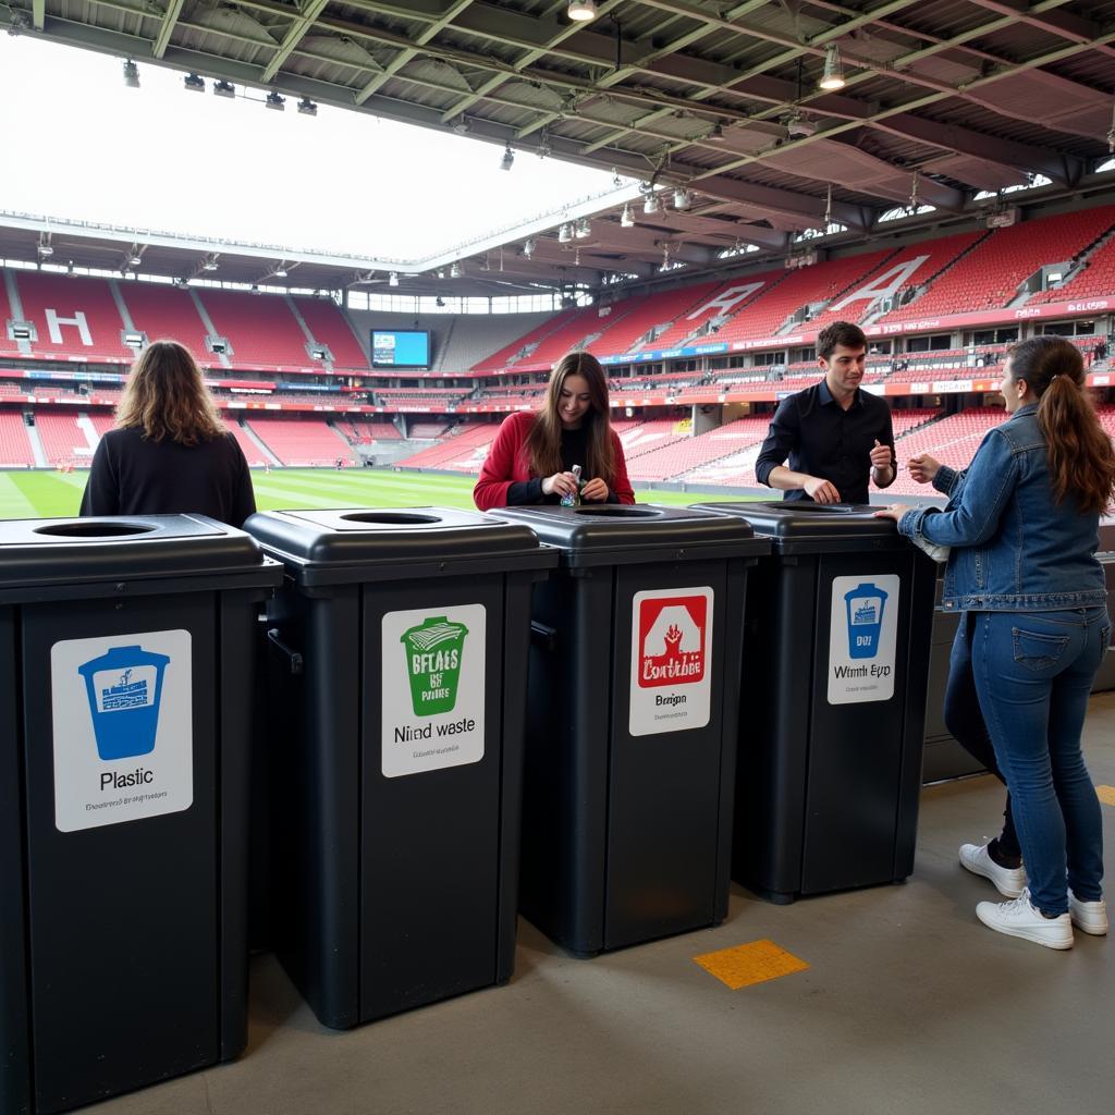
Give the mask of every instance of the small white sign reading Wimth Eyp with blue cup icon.
M 833 579 L 830 705 L 857 705 L 894 696 L 900 588 L 895 573 Z

